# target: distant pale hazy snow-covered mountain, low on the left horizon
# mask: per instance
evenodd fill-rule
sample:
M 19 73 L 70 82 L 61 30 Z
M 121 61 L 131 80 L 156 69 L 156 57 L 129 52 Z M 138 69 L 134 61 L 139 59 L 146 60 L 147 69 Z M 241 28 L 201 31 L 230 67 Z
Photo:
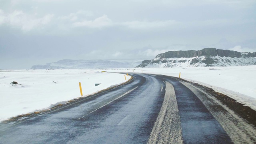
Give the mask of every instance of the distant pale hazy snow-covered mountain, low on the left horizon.
M 65 68 L 134 68 L 142 60 L 60 60 L 58 62 L 32 66 L 31 69 L 65 69 Z

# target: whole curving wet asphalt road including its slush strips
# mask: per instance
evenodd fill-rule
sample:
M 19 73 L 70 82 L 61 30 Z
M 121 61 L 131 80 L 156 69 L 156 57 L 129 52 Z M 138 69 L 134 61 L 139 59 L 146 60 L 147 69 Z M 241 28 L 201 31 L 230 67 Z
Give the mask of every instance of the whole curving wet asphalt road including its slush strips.
M 252 124 L 204 90 L 168 76 L 131 75 L 132 81 L 114 89 L 0 124 L 0 144 L 256 141 Z

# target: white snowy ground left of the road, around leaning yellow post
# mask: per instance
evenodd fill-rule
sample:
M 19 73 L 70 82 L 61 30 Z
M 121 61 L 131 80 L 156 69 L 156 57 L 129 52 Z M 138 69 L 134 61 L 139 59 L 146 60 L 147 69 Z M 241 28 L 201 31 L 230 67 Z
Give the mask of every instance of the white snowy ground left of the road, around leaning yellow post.
M 126 76 L 126 80 L 129 78 Z M 78 98 L 78 82 L 86 96 L 126 80 L 124 74 L 101 70 L 0 70 L 0 121 Z M 10 84 L 13 81 L 18 84 Z

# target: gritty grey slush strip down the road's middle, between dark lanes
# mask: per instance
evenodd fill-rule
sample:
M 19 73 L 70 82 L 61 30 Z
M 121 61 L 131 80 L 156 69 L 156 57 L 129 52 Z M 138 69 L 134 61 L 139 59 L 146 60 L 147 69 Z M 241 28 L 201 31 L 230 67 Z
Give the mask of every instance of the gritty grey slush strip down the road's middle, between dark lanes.
M 148 144 L 182 144 L 180 115 L 174 87 L 166 83 L 164 102 L 158 114 Z

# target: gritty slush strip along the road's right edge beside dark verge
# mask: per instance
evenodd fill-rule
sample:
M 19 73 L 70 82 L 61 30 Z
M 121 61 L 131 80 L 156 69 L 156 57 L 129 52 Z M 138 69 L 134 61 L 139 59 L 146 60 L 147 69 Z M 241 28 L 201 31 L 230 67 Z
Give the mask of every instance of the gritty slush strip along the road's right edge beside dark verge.
M 234 144 L 254 144 L 256 142 L 256 129 L 245 122 L 240 116 L 238 116 L 233 110 L 230 110 L 228 106 L 222 104 L 219 100 L 210 96 L 203 90 L 200 90 L 196 86 L 183 82 L 182 84 L 188 87 L 206 108 L 212 113 L 214 118 L 220 123 L 222 128 L 230 136 Z

